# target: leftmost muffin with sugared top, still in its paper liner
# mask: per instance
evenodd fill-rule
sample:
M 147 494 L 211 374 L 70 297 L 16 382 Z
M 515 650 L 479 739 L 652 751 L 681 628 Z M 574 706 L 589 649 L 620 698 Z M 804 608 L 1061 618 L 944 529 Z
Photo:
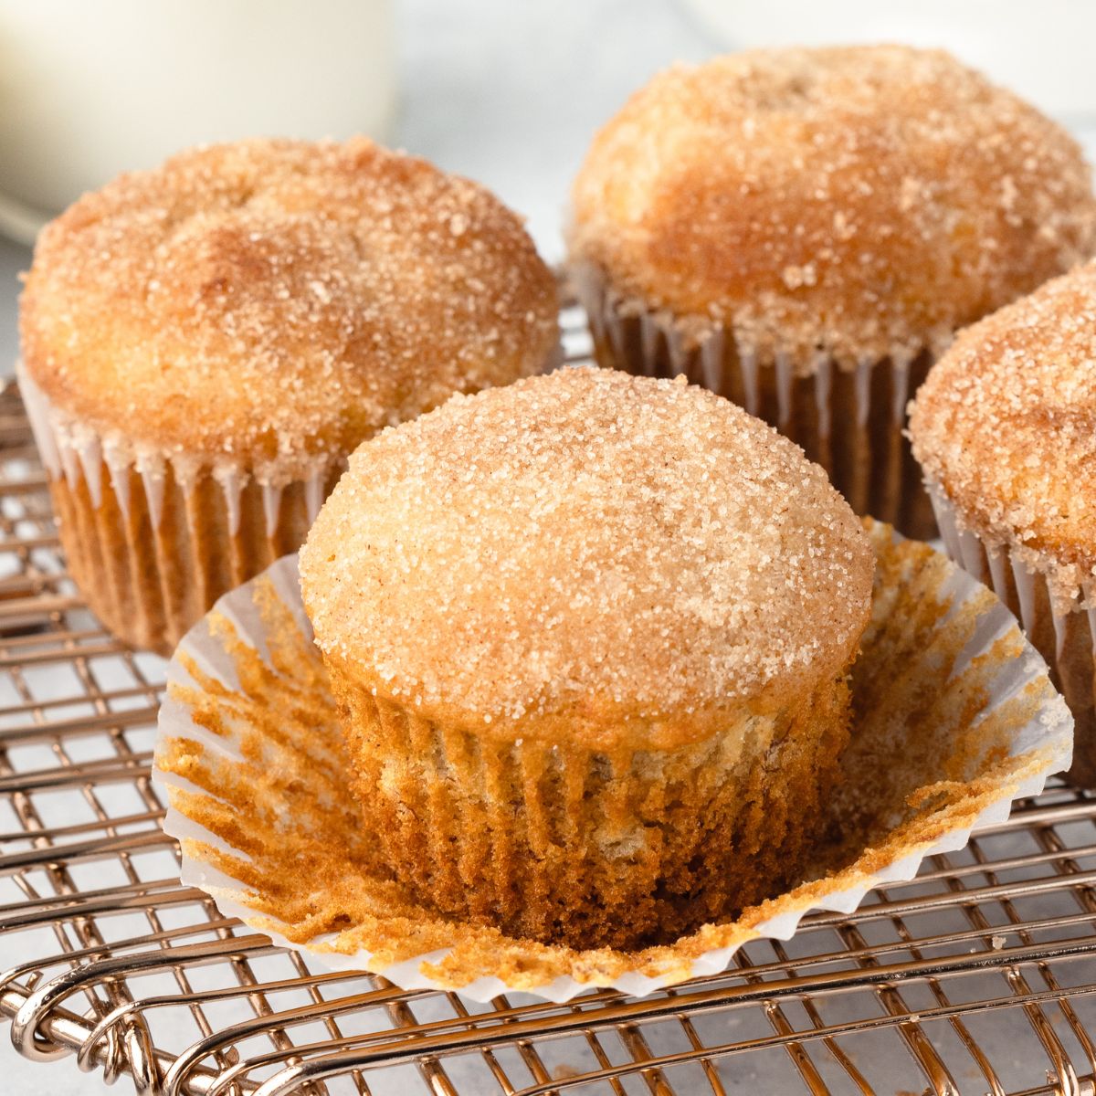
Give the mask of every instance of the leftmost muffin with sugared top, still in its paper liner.
M 21 383 L 69 569 L 167 652 L 304 539 L 346 456 L 555 363 L 516 215 L 364 138 L 182 152 L 38 238 Z

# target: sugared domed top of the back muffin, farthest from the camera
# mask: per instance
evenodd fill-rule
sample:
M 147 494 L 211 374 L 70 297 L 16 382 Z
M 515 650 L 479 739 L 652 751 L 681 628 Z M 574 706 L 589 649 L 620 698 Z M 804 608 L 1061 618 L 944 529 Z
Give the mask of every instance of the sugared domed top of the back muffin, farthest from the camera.
M 1096 250 L 1077 145 L 948 54 L 773 49 L 676 66 L 597 135 L 572 258 L 740 345 L 845 366 L 951 333 Z

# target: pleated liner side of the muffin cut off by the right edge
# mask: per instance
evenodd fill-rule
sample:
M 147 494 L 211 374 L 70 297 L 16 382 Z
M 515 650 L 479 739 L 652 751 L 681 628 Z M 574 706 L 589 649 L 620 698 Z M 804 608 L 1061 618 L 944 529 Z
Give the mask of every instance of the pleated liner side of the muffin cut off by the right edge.
M 1008 606 L 1070 706 L 1074 746 L 1066 777 L 1096 788 L 1096 608 L 1078 605 L 1069 613 L 1055 612 L 1043 575 L 1030 571 L 1007 548 L 991 546 L 969 528 L 960 528 L 944 491 L 931 484 L 928 492 L 948 555 Z

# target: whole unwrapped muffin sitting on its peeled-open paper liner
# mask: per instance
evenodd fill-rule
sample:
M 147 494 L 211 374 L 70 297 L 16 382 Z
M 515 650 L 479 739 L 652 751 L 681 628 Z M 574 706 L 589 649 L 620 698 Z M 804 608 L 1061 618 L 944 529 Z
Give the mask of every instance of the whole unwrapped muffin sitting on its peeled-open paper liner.
M 871 548 L 678 379 L 455 397 L 357 449 L 301 550 L 362 825 L 445 915 L 636 947 L 803 869 Z

